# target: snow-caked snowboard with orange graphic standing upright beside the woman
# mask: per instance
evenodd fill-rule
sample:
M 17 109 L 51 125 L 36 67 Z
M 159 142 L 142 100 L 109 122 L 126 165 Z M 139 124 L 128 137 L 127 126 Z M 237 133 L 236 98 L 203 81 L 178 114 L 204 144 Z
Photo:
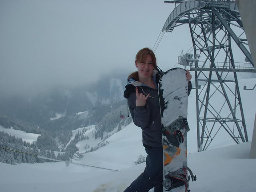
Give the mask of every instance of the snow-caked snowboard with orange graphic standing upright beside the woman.
M 163 191 L 187 192 L 190 176 L 187 167 L 188 81 L 186 71 L 166 71 L 158 84 L 163 139 Z M 190 176 L 188 175 L 190 173 Z

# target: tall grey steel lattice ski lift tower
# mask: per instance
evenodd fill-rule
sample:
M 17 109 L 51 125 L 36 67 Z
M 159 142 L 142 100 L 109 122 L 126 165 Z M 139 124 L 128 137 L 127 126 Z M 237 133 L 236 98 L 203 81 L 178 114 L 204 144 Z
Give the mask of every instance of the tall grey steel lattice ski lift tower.
M 175 8 L 162 32 L 188 24 L 192 38 L 193 52 L 182 52 L 178 63 L 195 73 L 198 151 L 206 150 L 220 134 L 236 143 L 248 141 L 237 73 L 255 69 L 236 1 L 165 3 L 175 3 Z

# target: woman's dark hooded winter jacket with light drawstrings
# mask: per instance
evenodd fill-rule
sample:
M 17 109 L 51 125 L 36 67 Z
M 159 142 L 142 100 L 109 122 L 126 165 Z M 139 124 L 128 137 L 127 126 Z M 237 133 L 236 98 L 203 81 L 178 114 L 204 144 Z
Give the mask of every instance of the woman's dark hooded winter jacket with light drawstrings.
M 157 85 L 162 74 L 163 72 L 158 72 L 156 75 L 155 83 Z M 128 99 L 128 107 L 134 124 L 142 129 L 143 145 L 145 147 L 162 147 L 162 125 L 158 90 L 142 85 L 140 82 L 133 82 L 136 81 L 128 81 L 128 85 L 125 86 L 124 97 Z M 135 105 L 135 87 L 138 87 L 139 93 L 143 93 L 144 95 L 150 93 L 146 105 L 143 107 L 137 107 Z M 189 82 L 188 94 L 191 88 L 192 85 Z

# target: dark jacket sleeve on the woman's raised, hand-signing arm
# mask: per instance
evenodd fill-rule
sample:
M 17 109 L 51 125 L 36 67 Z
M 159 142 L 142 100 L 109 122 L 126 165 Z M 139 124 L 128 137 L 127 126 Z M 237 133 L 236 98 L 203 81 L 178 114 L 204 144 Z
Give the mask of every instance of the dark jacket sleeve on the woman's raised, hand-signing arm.
M 128 102 L 133 123 L 142 129 L 146 128 L 150 124 L 150 107 L 147 103 L 145 106 L 137 107 L 135 101 L 136 96 L 130 95 Z

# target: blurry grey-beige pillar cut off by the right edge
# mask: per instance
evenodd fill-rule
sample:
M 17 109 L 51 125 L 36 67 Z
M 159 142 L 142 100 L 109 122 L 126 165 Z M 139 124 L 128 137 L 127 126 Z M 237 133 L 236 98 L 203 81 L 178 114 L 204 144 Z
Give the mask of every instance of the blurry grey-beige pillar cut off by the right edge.
M 236 0 L 238 5 L 239 13 L 241 20 L 244 26 L 244 31 L 246 38 L 248 40 L 249 48 L 251 51 L 252 59 L 254 66 L 256 65 L 256 1 L 255 0 Z M 256 99 L 253 98 L 252 102 L 256 102 Z M 252 136 L 252 145 L 251 145 L 251 158 L 256 158 L 256 114 L 254 120 L 254 129 Z

